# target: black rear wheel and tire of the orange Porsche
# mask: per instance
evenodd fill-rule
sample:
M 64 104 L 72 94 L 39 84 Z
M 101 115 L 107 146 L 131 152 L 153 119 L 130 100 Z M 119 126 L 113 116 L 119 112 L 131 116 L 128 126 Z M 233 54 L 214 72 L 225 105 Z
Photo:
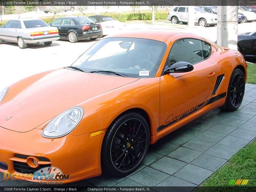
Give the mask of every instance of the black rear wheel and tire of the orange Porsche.
M 237 110 L 245 94 L 245 75 L 241 69 L 235 69 L 229 81 L 227 98 L 225 105 L 222 107 L 225 111 Z

